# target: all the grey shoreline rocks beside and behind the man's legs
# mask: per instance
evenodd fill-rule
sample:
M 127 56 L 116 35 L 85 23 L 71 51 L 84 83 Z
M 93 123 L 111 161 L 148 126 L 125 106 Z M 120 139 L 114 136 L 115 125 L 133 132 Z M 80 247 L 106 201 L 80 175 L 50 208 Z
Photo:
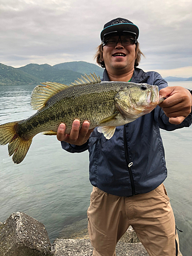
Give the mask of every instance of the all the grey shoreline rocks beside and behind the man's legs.
M 75 239 L 55 239 L 51 244 L 44 224 L 18 211 L 10 215 L 5 222 L 0 222 L 0 255 L 92 256 L 93 247 L 87 229 L 73 234 L 73 237 Z M 116 254 L 148 256 L 132 227 L 127 229 L 117 243 Z

